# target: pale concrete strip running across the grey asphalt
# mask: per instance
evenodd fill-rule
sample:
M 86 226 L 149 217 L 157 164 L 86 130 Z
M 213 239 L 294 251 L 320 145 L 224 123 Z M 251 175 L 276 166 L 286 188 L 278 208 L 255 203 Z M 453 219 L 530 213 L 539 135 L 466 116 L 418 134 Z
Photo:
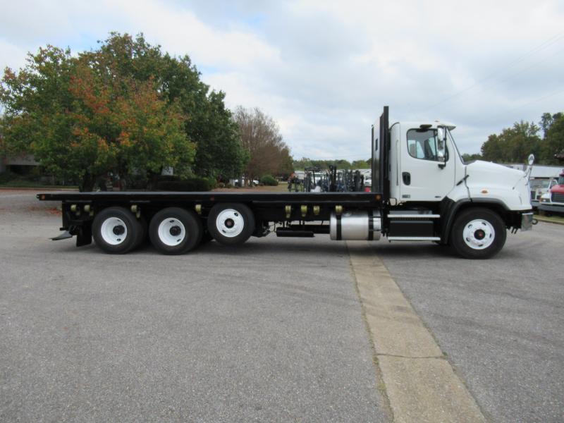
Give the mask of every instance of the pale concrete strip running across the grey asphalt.
M 486 422 L 372 245 L 347 247 L 393 421 Z

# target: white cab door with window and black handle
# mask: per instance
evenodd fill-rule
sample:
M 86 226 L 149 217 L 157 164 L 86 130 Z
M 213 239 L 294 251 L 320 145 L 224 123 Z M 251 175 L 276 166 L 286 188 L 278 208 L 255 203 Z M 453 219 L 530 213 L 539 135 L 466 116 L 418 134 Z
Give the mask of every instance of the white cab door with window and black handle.
M 436 128 L 422 125 L 407 128 L 400 141 L 401 201 L 441 201 L 455 184 L 455 152 L 444 137 L 437 136 Z M 454 154 L 452 154 L 454 156 Z

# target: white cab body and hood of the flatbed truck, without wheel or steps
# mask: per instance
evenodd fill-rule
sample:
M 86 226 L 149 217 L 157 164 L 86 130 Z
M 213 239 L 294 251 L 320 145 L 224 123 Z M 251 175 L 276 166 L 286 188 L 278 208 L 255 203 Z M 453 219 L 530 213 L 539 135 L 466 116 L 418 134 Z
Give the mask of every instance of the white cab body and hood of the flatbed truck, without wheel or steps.
M 390 197 L 396 204 L 446 198 L 532 209 L 527 173 L 487 161 L 462 161 L 449 123 L 391 125 Z

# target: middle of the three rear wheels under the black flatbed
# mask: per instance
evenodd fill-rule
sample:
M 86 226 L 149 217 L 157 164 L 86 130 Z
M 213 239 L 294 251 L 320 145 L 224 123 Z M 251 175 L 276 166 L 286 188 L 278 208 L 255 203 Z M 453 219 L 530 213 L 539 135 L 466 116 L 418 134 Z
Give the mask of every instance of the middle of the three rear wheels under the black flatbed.
M 168 207 L 153 216 L 149 238 L 159 252 L 168 255 L 193 250 L 202 239 L 202 221 L 192 211 Z

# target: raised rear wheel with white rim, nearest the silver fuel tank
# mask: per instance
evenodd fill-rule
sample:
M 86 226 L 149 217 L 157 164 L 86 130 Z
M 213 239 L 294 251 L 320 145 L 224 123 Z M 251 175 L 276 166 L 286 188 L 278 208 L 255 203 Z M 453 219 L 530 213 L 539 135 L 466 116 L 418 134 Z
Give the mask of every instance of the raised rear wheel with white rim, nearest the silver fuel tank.
M 255 215 L 245 204 L 216 204 L 207 216 L 207 230 L 220 244 L 240 245 L 255 232 Z

